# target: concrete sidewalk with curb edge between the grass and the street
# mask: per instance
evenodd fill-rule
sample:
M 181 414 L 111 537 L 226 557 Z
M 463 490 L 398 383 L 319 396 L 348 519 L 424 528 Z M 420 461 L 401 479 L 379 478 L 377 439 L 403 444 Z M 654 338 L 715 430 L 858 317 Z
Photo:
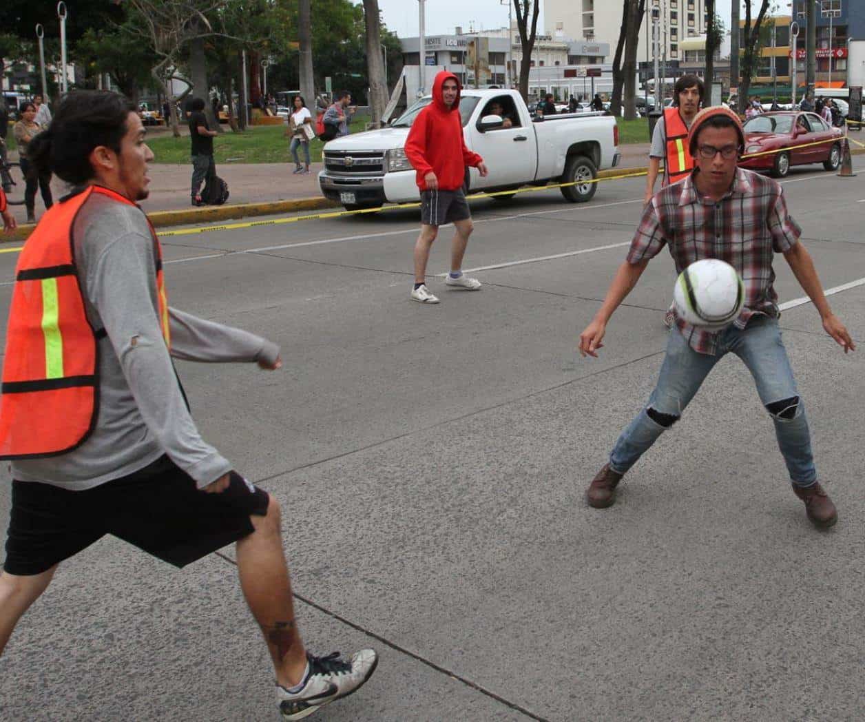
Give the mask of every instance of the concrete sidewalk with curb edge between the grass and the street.
M 644 167 L 649 155 L 649 147 L 648 143 L 621 145 L 619 150 L 622 153 L 622 160 L 618 167 L 629 169 Z M 151 178 L 151 195 L 141 205 L 157 226 L 215 222 L 226 218 L 328 208 L 336 204 L 322 197 L 318 190 L 317 176 L 321 169 L 322 164 L 313 163 L 309 175 L 295 176 L 292 174 L 294 170 L 292 164 L 220 164 L 216 166 L 216 172 L 225 179 L 231 191 L 228 203 L 225 206 L 195 208 L 190 201 L 192 165 L 154 163 L 151 164 L 148 172 Z M 16 175 L 16 180 L 20 180 L 20 174 Z M 68 187 L 60 178 L 54 177 L 51 190 L 56 200 L 67 193 Z M 16 189 L 10 194 L 12 199 L 22 197 L 23 190 Z M 10 208 L 20 227 L 16 237 L 26 237 L 31 227 L 25 223 L 27 214 L 24 207 L 15 205 Z M 159 216 L 166 211 L 181 212 Z M 43 212 L 42 197 L 37 193 L 37 220 Z

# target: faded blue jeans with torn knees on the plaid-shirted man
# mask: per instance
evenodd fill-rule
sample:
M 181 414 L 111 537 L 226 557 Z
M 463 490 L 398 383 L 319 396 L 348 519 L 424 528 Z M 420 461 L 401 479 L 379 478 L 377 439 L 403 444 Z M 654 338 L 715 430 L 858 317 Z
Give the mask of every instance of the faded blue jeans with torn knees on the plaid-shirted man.
M 612 449 L 610 466 L 613 471 L 625 474 L 637 463 L 671 422 L 682 416 L 703 379 L 728 351 L 741 358 L 751 371 L 760 401 L 775 424 L 775 435 L 793 484 L 810 487 L 817 481 L 808 420 L 798 397 L 778 321 L 762 315 L 754 316 L 744 330 L 728 326 L 721 332 L 721 342 L 714 356 L 694 351 L 675 327 L 670 331 L 667 354 L 649 403 L 622 432 Z M 778 403 L 789 399 L 792 399 L 790 403 Z

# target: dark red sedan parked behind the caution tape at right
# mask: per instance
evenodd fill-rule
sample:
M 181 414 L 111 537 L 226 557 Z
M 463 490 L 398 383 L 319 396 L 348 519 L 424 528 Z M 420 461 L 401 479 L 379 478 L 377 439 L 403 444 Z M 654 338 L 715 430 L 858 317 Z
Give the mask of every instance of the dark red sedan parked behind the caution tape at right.
M 745 122 L 745 153 L 739 164 L 750 171 L 771 171 L 783 178 L 791 165 L 822 163 L 827 171 L 841 164 L 844 133 L 816 113 L 761 113 Z M 809 145 L 798 148 L 798 145 Z M 788 150 L 789 149 L 789 150 Z M 748 158 L 755 153 L 766 153 Z

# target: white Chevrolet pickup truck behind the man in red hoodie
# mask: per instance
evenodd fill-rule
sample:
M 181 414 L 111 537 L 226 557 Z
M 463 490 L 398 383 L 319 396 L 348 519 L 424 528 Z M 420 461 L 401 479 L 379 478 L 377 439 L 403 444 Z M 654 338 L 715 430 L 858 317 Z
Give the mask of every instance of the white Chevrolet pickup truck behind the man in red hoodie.
M 324 145 L 318 184 L 325 197 L 349 210 L 420 200 L 406 158 L 408 129 L 432 97 L 421 98 L 387 128 L 356 133 Z M 494 103 L 502 115 L 493 115 Z M 522 185 L 576 183 L 561 189 L 574 203 L 593 197 L 589 183 L 600 169 L 618 164 L 618 126 L 612 115 L 573 113 L 533 118 L 513 90 L 463 90 L 459 100 L 465 145 L 489 168 L 485 178 L 465 170 L 465 190 L 516 190 Z M 505 119 L 511 125 L 505 127 Z M 506 200 L 511 195 L 497 196 Z

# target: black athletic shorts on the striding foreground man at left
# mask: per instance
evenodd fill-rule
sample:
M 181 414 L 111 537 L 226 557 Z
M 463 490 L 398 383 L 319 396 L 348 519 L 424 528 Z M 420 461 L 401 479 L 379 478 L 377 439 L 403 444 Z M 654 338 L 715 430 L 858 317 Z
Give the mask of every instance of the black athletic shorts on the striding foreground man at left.
M 3 568 L 40 574 L 106 534 L 182 567 L 251 534 L 249 517 L 264 516 L 268 500 L 235 472 L 224 492 L 199 491 L 167 456 L 79 492 L 13 481 Z

